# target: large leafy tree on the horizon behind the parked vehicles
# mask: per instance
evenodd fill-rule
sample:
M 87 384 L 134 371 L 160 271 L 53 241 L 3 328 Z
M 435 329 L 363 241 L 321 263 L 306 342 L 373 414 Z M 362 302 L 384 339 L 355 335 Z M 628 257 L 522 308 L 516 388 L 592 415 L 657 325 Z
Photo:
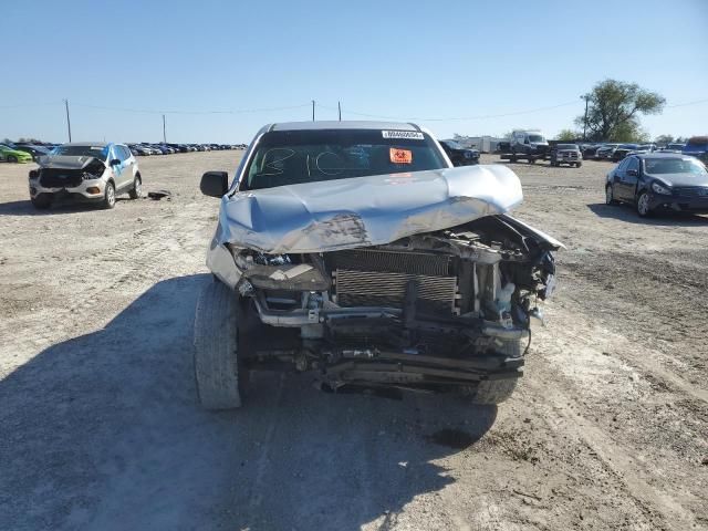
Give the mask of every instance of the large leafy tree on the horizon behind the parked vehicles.
M 646 133 L 641 129 L 639 115 L 659 114 L 666 98 L 636 83 L 605 80 L 587 94 L 587 136 L 593 140 L 638 142 Z M 583 127 L 585 116 L 575 118 Z

